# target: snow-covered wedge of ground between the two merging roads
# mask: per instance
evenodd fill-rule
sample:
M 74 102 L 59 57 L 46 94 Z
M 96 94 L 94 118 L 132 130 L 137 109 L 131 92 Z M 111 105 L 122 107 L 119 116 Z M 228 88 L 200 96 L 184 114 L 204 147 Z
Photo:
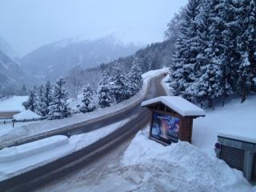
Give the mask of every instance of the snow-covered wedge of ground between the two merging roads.
M 57 135 L 50 138 L 0 150 L 0 181 L 45 165 L 76 150 L 98 141 L 117 130 L 135 116 L 115 122 L 110 126 L 67 138 Z

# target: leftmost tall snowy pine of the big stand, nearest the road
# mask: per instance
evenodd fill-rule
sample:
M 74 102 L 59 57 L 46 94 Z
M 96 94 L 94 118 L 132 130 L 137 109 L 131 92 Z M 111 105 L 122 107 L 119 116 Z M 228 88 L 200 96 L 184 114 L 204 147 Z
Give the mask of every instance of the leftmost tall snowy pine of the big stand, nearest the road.
M 198 36 L 195 18 L 197 17 L 201 0 L 189 0 L 182 17 L 178 39 L 175 42 L 176 51 L 173 65 L 170 67 L 170 86 L 173 94 L 181 94 L 189 99 L 186 89 L 195 81 L 194 66 L 198 55 Z

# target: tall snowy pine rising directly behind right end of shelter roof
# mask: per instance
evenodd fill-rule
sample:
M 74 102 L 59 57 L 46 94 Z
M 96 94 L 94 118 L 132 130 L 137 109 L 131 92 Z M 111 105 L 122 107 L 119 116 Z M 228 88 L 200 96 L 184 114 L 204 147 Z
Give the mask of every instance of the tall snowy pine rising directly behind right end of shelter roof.
M 221 66 L 214 60 L 214 18 L 216 14 L 217 1 L 203 0 L 199 14 L 195 22 L 198 26 L 198 56 L 195 64 L 195 80 L 187 88 L 190 100 L 213 107 L 213 99 L 222 94 L 222 87 L 219 79 L 222 78 Z

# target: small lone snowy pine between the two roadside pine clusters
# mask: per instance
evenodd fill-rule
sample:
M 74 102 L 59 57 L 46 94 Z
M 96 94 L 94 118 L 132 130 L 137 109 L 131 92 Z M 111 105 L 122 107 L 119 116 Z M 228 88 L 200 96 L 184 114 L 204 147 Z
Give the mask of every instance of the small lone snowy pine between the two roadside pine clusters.
M 90 84 L 86 86 L 83 90 L 83 99 L 82 99 L 82 106 L 80 107 L 80 111 L 82 113 L 87 113 L 96 109 L 95 105 L 95 97 L 96 92 L 91 89 Z

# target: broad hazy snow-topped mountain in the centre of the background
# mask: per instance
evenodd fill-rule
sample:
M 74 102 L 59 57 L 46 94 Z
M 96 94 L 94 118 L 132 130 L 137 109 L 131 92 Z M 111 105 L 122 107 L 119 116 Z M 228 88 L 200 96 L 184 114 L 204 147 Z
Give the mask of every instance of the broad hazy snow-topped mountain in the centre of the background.
M 41 80 L 55 80 L 74 66 L 83 69 L 99 66 L 114 59 L 134 54 L 139 47 L 124 45 L 114 35 L 96 40 L 66 38 L 34 50 L 21 58 L 24 70 Z

